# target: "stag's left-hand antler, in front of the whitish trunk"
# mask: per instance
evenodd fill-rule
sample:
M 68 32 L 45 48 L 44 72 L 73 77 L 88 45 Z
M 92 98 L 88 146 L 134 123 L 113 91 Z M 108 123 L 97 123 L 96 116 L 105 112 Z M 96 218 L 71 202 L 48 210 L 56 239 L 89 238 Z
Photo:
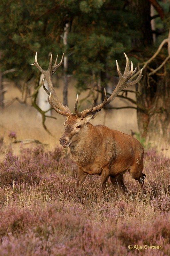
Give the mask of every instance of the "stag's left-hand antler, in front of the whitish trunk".
M 54 108 L 54 110 L 61 114 L 61 115 L 65 115 L 65 116 L 70 116 L 71 115 L 71 111 L 68 107 L 65 107 L 61 101 L 59 100 L 59 98 L 57 97 L 56 95 L 56 92 L 54 90 L 54 87 L 53 87 L 53 83 L 52 83 L 52 75 L 56 72 L 56 70 L 61 66 L 62 62 L 63 62 L 63 57 L 64 57 L 64 54 L 62 56 L 62 59 L 60 61 L 59 64 L 57 64 L 57 59 L 58 59 L 58 55 L 57 55 L 57 58 L 56 58 L 56 61 L 54 63 L 54 66 L 52 65 L 52 60 L 53 60 L 53 57 L 52 57 L 52 54 L 51 54 L 51 57 L 50 57 L 50 62 L 49 62 L 49 66 L 48 66 L 48 69 L 47 70 L 43 70 L 40 65 L 38 64 L 38 61 L 37 61 L 37 52 L 36 52 L 36 55 L 35 55 L 35 60 L 34 60 L 34 63 L 31 64 L 31 65 L 35 65 L 36 68 L 38 68 L 38 70 L 43 73 L 43 75 L 45 76 L 45 79 L 47 81 L 47 84 L 50 88 L 50 91 L 49 92 L 46 87 L 44 86 L 44 79 L 43 79 L 43 88 L 44 90 L 48 93 L 48 102 L 50 103 L 50 105 Z M 52 99 L 55 101 L 56 105 L 53 103 Z

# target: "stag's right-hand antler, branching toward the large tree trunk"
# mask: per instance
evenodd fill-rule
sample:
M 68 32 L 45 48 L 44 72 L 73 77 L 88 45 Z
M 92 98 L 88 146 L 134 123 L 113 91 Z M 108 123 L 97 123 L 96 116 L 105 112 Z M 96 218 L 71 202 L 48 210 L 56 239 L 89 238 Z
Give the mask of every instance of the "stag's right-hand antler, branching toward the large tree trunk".
M 127 57 L 127 55 L 125 53 L 124 53 L 124 55 L 125 55 L 125 58 L 126 58 L 126 67 L 125 67 L 123 75 L 121 74 L 118 62 L 116 60 L 119 82 L 118 82 L 116 88 L 114 89 L 114 91 L 112 92 L 112 94 L 110 95 L 110 97 L 107 99 L 106 91 L 105 91 L 105 88 L 104 88 L 105 97 L 104 97 L 104 101 L 101 104 L 99 104 L 98 106 L 95 106 L 95 107 L 94 107 L 94 104 L 93 104 L 91 108 L 86 109 L 82 112 L 78 112 L 78 110 L 77 110 L 78 95 L 77 95 L 76 104 L 75 104 L 75 113 L 77 114 L 77 116 L 84 117 L 85 115 L 87 115 L 89 113 L 94 113 L 94 112 L 97 112 L 97 111 L 101 110 L 105 105 L 109 104 L 118 95 L 118 93 L 121 90 L 123 90 L 127 86 L 134 85 L 134 84 L 136 84 L 137 82 L 140 81 L 140 79 L 142 78 L 142 69 L 141 69 L 138 77 L 134 81 L 128 82 L 129 79 L 132 77 L 132 75 L 134 75 L 134 73 L 136 72 L 136 67 L 133 70 L 133 63 L 131 62 L 131 68 L 130 68 L 129 58 Z

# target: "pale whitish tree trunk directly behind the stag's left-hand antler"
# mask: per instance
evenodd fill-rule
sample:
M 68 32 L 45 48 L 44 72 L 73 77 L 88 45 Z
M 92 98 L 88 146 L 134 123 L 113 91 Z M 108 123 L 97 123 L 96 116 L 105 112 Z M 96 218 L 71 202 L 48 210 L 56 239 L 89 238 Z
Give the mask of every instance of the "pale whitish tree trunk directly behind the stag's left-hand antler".
M 42 84 L 43 79 L 44 79 L 44 75 L 41 74 L 41 75 L 40 75 L 39 84 Z M 44 85 L 45 85 L 45 87 L 47 88 L 47 90 L 49 90 L 48 84 L 47 84 L 46 80 L 44 80 Z M 37 100 L 38 100 L 37 103 L 38 103 L 38 104 L 37 104 L 37 105 L 38 105 L 43 111 L 46 111 L 46 110 L 48 110 L 48 109 L 51 108 L 51 105 L 48 103 L 47 98 L 48 98 L 48 95 L 47 95 L 47 93 L 45 92 L 45 90 L 43 89 L 43 86 L 41 86 L 40 89 L 38 90 L 38 98 L 37 98 Z M 47 112 L 47 114 L 48 114 L 49 116 L 51 116 L 51 110 L 49 110 L 49 111 Z M 40 113 L 38 113 L 38 115 L 41 116 Z

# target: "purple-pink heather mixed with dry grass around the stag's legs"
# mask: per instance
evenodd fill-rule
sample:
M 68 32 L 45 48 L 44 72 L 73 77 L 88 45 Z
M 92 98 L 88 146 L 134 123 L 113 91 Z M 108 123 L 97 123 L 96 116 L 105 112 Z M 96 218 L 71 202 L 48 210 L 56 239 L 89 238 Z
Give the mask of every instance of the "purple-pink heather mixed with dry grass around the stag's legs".
M 76 168 L 61 147 L 21 146 L 17 155 L 8 147 L 0 163 L 1 256 L 170 255 L 168 158 L 146 151 L 143 190 L 127 173 L 127 197 L 108 181 L 100 200 L 97 176 L 75 189 Z M 135 244 L 162 249 L 128 249 Z

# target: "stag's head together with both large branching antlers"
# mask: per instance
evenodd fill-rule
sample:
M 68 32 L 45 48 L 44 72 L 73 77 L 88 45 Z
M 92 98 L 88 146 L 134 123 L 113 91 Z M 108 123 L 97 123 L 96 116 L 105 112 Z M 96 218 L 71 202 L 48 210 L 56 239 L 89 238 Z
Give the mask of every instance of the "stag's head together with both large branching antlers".
M 38 68 L 38 70 L 41 73 L 43 73 L 45 76 L 45 79 L 46 79 L 48 86 L 50 88 L 50 91 L 51 91 L 51 92 L 49 92 L 45 88 L 44 81 L 43 81 L 43 88 L 48 93 L 48 102 L 51 104 L 51 106 L 54 108 L 54 110 L 57 113 L 67 116 L 67 120 L 64 122 L 65 132 L 64 132 L 63 136 L 60 138 L 60 144 L 63 147 L 68 148 L 70 145 L 74 145 L 79 140 L 81 140 L 81 138 L 83 138 L 85 129 L 87 128 L 86 126 L 88 124 L 88 121 L 95 118 L 97 116 L 97 114 L 100 112 L 100 110 L 105 105 L 109 104 L 118 95 L 118 93 L 121 90 L 123 90 L 127 86 L 134 85 L 140 81 L 140 79 L 142 77 L 142 70 L 140 71 L 138 77 L 135 80 L 129 82 L 129 79 L 136 72 L 136 67 L 133 70 L 133 63 L 131 62 L 131 68 L 130 68 L 129 59 L 125 53 L 124 53 L 124 55 L 126 58 L 126 67 L 125 67 L 124 73 L 122 75 L 119 65 L 118 65 L 118 62 L 116 61 L 119 82 L 118 82 L 116 88 L 114 89 L 114 91 L 112 92 L 112 94 L 110 95 L 110 97 L 107 98 L 106 90 L 104 88 L 105 97 L 101 104 L 94 106 L 94 103 L 93 103 L 91 108 L 85 109 L 84 111 L 79 112 L 77 109 L 77 107 L 78 107 L 78 95 L 77 95 L 76 103 L 75 103 L 75 114 L 73 114 L 67 106 L 64 106 L 60 102 L 59 98 L 57 97 L 57 95 L 55 93 L 53 83 L 52 83 L 52 75 L 56 72 L 56 70 L 62 64 L 64 55 L 62 56 L 62 59 L 59 64 L 57 64 L 57 59 L 58 59 L 58 55 L 57 55 L 54 65 L 52 65 L 52 55 L 51 55 L 48 69 L 43 70 L 37 62 L 37 53 L 36 53 L 35 61 L 34 61 L 34 64 L 32 64 L 32 65 L 35 65 Z

